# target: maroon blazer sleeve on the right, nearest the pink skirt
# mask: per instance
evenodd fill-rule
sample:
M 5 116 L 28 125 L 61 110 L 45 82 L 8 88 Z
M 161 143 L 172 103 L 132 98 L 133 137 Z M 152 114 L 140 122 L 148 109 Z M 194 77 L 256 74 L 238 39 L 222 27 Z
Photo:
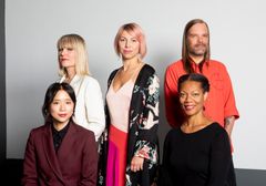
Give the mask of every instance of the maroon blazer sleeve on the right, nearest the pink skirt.
M 94 135 L 84 137 L 84 151 L 82 157 L 82 173 L 79 186 L 95 186 L 98 179 L 98 151 Z

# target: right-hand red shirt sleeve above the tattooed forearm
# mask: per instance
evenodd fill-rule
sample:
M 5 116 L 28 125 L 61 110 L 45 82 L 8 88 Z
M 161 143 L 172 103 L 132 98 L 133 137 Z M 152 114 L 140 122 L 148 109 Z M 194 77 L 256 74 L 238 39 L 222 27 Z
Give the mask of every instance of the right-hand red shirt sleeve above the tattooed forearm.
M 231 82 L 229 74 L 225 66 L 224 66 L 224 81 L 225 81 L 225 86 L 224 86 L 224 100 L 225 100 L 224 115 L 225 115 L 225 118 L 228 116 L 235 116 L 235 118 L 238 118 L 239 114 L 236 108 L 233 85 Z

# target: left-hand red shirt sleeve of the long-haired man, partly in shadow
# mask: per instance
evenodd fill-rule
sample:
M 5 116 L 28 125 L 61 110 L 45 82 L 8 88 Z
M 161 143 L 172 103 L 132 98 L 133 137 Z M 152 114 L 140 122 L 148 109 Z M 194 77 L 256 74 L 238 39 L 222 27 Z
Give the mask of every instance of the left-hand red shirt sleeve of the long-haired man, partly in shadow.
M 173 72 L 171 66 L 167 68 L 164 76 L 165 114 L 167 122 L 172 127 L 180 126 L 183 121 L 177 93 L 177 80 L 178 75 Z

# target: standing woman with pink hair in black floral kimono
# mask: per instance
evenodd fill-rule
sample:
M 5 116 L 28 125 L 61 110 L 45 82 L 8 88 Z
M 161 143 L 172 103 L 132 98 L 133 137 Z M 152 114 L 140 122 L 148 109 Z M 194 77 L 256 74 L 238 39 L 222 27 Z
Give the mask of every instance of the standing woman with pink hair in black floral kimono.
M 100 141 L 99 185 L 150 186 L 158 164 L 158 79 L 143 62 L 145 37 L 140 25 L 120 28 L 114 49 L 122 66 L 108 81 L 106 133 Z

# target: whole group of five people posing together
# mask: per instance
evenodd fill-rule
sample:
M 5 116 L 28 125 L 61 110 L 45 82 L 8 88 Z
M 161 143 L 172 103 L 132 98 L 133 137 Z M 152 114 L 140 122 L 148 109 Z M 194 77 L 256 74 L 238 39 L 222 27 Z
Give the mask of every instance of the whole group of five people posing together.
M 160 82 L 143 61 L 145 35 L 123 24 L 114 39 L 122 66 L 101 87 L 89 73 L 85 41 L 58 41 L 60 80 L 42 106 L 44 125 L 30 132 L 23 186 L 235 186 L 231 134 L 239 117 L 224 64 L 211 60 L 201 19 L 184 30 L 182 59 L 166 69 L 166 135 L 158 149 Z

